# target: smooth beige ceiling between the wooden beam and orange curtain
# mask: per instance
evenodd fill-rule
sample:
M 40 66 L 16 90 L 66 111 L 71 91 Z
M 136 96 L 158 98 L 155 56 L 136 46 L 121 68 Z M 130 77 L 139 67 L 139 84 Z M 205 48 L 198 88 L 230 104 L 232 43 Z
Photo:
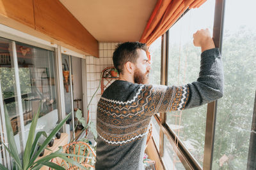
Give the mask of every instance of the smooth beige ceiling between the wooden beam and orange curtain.
M 157 0 L 60 0 L 98 41 L 139 41 Z

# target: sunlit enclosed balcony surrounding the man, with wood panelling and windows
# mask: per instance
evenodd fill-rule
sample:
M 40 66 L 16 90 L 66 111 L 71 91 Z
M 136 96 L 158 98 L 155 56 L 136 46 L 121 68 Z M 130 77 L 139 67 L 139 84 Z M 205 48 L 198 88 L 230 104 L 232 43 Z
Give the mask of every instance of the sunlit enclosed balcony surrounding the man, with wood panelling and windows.
M 209 28 L 221 52 L 224 96 L 155 114 L 144 164 L 146 169 L 256 169 L 255 5 L 252 0 L 0 0 L 0 164 L 15 165 L 4 147 L 10 147 L 10 128 L 23 159 L 38 108 L 35 132 L 47 136 L 71 115 L 60 139 L 54 137 L 47 146 L 51 151 L 45 149 L 38 160 L 79 141 L 95 154 L 97 103 L 118 80 L 111 74 L 116 46 L 146 43 L 149 83 L 184 85 L 200 72 L 201 50 L 193 45 L 193 34 Z

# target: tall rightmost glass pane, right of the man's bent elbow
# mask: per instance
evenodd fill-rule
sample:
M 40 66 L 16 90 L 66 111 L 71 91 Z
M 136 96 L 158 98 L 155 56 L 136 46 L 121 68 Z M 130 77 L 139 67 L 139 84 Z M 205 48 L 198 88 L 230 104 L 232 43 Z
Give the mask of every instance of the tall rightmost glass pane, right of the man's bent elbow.
M 228 0 L 225 4 L 225 94 L 218 101 L 212 169 L 247 166 L 256 87 L 255 6 L 256 1 L 249 0 Z

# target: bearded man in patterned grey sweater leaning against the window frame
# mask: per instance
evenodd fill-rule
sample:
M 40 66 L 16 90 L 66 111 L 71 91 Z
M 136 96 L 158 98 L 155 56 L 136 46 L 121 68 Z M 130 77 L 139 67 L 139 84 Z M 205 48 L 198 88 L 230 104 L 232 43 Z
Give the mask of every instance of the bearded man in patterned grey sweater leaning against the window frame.
M 202 49 L 197 81 L 180 87 L 147 85 L 147 46 L 123 43 L 113 53 L 120 79 L 100 97 L 97 108 L 96 169 L 143 169 L 148 124 L 156 113 L 201 106 L 223 96 L 223 67 L 208 29 L 193 34 Z

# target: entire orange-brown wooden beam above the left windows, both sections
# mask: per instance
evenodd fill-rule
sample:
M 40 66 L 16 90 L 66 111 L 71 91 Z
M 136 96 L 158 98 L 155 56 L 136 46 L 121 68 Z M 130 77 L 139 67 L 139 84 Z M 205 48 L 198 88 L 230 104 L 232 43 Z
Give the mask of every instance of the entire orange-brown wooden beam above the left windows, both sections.
M 0 23 L 51 43 L 74 46 L 83 54 L 99 56 L 97 39 L 60 1 L 0 0 Z

